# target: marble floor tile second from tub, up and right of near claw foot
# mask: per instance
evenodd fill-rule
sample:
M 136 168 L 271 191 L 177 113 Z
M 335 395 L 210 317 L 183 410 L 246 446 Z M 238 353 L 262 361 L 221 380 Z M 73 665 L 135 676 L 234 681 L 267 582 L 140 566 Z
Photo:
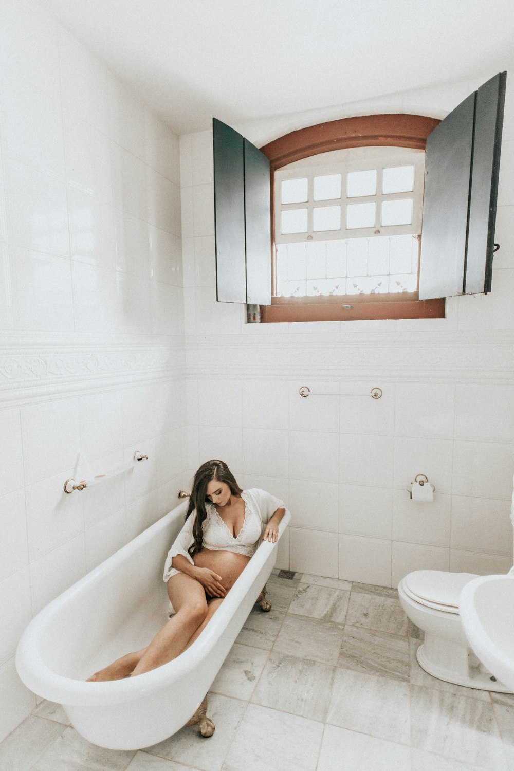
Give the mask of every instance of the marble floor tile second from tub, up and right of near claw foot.
M 334 667 L 272 651 L 251 701 L 312 720 L 326 719 Z

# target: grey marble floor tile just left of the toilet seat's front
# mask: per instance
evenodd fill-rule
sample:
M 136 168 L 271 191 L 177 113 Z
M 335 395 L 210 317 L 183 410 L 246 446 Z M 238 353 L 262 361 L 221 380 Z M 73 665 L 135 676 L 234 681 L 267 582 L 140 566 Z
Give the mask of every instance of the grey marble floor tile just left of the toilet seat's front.
M 355 592 L 353 589 L 346 623 L 376 631 L 388 631 L 391 635 L 407 635 L 408 631 L 408 618 L 397 598 Z

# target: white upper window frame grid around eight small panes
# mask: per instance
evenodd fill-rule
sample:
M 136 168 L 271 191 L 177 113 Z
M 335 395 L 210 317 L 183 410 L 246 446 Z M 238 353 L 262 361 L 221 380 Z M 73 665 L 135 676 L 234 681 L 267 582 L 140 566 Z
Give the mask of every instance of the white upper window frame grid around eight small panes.
M 369 157 L 369 151 L 373 150 L 373 156 Z M 358 152 L 361 151 L 361 152 Z M 364 151 L 364 152 L 363 152 Z M 338 153 L 338 151 L 335 151 Z M 363 238 L 389 235 L 420 235 L 422 232 L 423 217 L 423 188 L 425 184 L 425 151 L 409 150 L 405 147 L 352 147 L 340 151 L 348 154 L 346 160 L 334 160 L 333 162 L 321 162 L 318 156 L 304 158 L 282 167 L 275 171 L 274 189 L 274 215 L 275 215 L 275 244 L 294 244 L 302 241 L 330 241 L 346 240 L 348 238 Z M 413 190 L 405 193 L 382 193 L 382 176 L 384 169 L 399 166 L 414 167 Z M 371 196 L 347 196 L 348 173 L 354 171 L 377 170 L 377 188 L 375 195 Z M 314 200 L 314 177 L 322 177 L 330 174 L 341 174 L 341 197 L 328 200 Z M 301 179 L 307 177 L 307 201 L 297 204 L 281 203 L 281 184 L 283 180 Z M 382 201 L 412 198 L 412 222 L 406 225 L 381 225 L 377 220 L 381 214 Z M 372 227 L 346 227 L 346 207 L 348 204 L 375 203 L 375 225 Z M 314 231 L 314 208 L 341 206 L 341 228 L 331 231 Z M 294 209 L 307 209 L 306 233 L 281 233 L 282 211 Z

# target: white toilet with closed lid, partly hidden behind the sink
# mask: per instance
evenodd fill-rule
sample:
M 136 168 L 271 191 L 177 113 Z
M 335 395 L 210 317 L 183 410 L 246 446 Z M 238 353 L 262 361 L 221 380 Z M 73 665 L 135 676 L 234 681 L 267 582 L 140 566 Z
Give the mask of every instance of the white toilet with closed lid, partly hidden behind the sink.
M 414 571 L 398 584 L 401 607 L 425 632 L 416 653 L 425 672 L 467 688 L 510 693 L 469 648 L 459 618 L 459 595 L 476 577 L 472 573 Z

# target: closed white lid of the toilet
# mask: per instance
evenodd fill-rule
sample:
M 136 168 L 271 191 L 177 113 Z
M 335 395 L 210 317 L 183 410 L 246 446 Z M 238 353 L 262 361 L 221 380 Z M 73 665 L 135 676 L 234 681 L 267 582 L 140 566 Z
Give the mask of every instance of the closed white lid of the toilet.
M 473 573 L 414 571 L 405 576 L 403 586 L 405 594 L 428 608 L 459 613 L 459 595 L 476 577 Z

